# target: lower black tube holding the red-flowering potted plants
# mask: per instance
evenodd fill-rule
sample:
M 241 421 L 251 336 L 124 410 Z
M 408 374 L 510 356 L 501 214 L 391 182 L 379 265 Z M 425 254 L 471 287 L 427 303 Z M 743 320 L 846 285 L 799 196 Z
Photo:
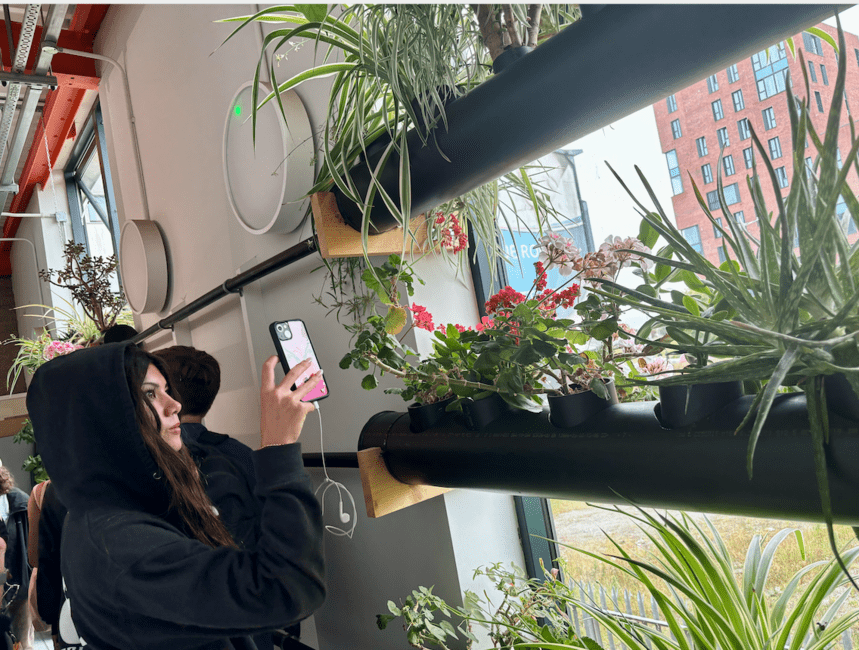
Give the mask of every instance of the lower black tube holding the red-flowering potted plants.
M 748 432 L 734 430 L 752 399 L 674 431 L 661 427 L 654 402 L 611 406 L 575 429 L 554 427 L 547 412 L 518 412 L 480 431 L 451 419 L 412 433 L 407 414 L 386 411 L 367 422 L 358 448 L 381 447 L 391 474 L 409 484 L 822 521 L 805 396 L 776 399 L 749 480 Z M 830 426 L 835 522 L 857 526 L 859 426 L 834 414 Z

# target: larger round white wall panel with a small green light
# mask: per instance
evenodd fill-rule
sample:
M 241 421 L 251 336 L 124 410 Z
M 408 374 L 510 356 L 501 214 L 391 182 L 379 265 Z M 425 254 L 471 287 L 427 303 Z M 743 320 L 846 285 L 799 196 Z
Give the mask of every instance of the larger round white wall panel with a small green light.
M 258 101 L 271 92 L 260 83 Z M 304 220 L 313 187 L 313 137 L 307 111 L 290 90 L 257 113 L 253 138 L 253 82 L 239 88 L 224 125 L 224 181 L 230 207 L 250 233 L 292 232 Z

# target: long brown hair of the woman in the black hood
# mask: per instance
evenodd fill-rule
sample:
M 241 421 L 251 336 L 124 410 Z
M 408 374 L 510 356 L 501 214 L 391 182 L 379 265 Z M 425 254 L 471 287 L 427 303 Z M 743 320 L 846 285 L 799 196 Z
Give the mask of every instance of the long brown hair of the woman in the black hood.
M 177 452 L 161 438 L 161 419 L 143 393 L 143 380 L 150 364 L 164 376 L 169 389 L 169 374 L 160 359 L 133 345 L 126 348 L 125 378 L 131 390 L 137 424 L 143 434 L 143 442 L 167 481 L 170 509 L 179 515 L 188 532 L 204 544 L 237 548 L 229 531 L 213 511 L 188 449 L 182 445 Z

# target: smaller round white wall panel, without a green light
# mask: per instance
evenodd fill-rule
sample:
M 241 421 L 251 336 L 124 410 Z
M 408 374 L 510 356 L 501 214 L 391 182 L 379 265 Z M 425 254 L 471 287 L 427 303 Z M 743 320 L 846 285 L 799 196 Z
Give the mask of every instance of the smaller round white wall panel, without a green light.
M 167 252 L 154 221 L 126 221 L 119 237 L 122 288 L 136 313 L 158 312 L 167 301 Z

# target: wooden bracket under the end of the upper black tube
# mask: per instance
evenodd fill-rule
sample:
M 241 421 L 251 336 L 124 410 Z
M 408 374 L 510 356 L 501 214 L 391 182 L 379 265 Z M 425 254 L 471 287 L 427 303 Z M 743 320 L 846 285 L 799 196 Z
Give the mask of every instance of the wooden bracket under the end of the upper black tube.
M 313 220 L 319 238 L 319 252 L 325 259 L 332 257 L 361 257 L 364 247 L 361 233 L 348 226 L 337 208 L 337 200 L 331 192 L 316 192 L 310 196 L 313 207 Z M 414 217 L 409 222 L 409 230 L 414 235 L 410 249 L 424 251 L 427 245 L 427 224 L 424 215 Z M 381 235 L 367 238 L 369 255 L 390 255 L 402 253 L 403 229 L 395 228 Z

